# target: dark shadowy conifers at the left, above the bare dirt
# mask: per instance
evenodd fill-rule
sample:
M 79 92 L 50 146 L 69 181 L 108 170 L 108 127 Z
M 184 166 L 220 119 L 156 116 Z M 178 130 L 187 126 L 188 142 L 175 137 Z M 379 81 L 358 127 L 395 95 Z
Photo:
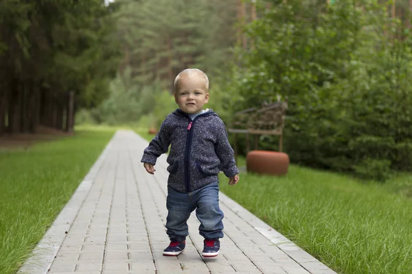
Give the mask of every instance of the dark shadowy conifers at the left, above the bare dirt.
M 98 104 L 119 57 L 115 5 L 0 1 L 0 134 L 38 125 L 73 129 L 76 108 Z

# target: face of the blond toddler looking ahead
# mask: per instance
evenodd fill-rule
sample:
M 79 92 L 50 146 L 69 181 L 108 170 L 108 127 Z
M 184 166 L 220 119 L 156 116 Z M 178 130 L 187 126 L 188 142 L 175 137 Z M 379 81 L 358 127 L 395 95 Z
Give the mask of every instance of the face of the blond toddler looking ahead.
M 205 80 L 198 76 L 180 79 L 178 90 L 174 92 L 174 99 L 183 112 L 188 114 L 201 112 L 203 105 L 209 101 Z

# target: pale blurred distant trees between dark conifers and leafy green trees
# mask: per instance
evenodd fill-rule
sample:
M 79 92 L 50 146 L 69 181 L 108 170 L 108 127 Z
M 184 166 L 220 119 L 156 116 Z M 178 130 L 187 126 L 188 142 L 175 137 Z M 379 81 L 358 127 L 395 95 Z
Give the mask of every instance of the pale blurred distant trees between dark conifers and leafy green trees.
M 80 121 L 136 123 L 152 114 L 156 105 L 170 101 L 174 77 L 187 67 L 218 78 L 229 77 L 233 47 L 237 42 L 238 8 L 251 16 L 251 4 L 238 0 L 117 0 L 113 15 L 122 61 L 108 97 Z M 247 18 L 249 20 L 249 18 Z M 163 100 L 164 99 L 164 100 Z M 162 101 L 163 100 L 163 101 Z M 159 110 L 170 111 L 174 103 Z M 170 106 L 170 107 L 169 107 Z M 87 116 L 87 115 L 84 115 Z M 158 123 L 160 118 L 153 118 Z M 156 121 L 154 121 L 156 120 Z

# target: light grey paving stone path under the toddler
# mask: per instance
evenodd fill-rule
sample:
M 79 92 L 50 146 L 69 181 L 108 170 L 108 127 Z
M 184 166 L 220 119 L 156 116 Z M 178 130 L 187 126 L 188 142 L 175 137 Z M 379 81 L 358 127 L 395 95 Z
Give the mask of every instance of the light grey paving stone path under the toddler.
M 192 214 L 185 252 L 162 256 L 169 243 L 166 155 L 149 175 L 140 163 L 147 145 L 134 132 L 118 131 L 18 273 L 334 273 L 222 192 L 220 255 L 202 258 Z

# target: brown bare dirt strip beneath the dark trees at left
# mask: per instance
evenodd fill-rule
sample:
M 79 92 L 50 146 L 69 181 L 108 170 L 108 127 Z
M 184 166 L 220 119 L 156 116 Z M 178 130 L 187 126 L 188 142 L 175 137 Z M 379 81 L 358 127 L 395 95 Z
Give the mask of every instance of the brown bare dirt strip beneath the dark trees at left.
M 57 140 L 72 135 L 73 133 L 39 126 L 36 134 L 5 134 L 0 136 L 0 150 L 27 149 L 38 142 Z

